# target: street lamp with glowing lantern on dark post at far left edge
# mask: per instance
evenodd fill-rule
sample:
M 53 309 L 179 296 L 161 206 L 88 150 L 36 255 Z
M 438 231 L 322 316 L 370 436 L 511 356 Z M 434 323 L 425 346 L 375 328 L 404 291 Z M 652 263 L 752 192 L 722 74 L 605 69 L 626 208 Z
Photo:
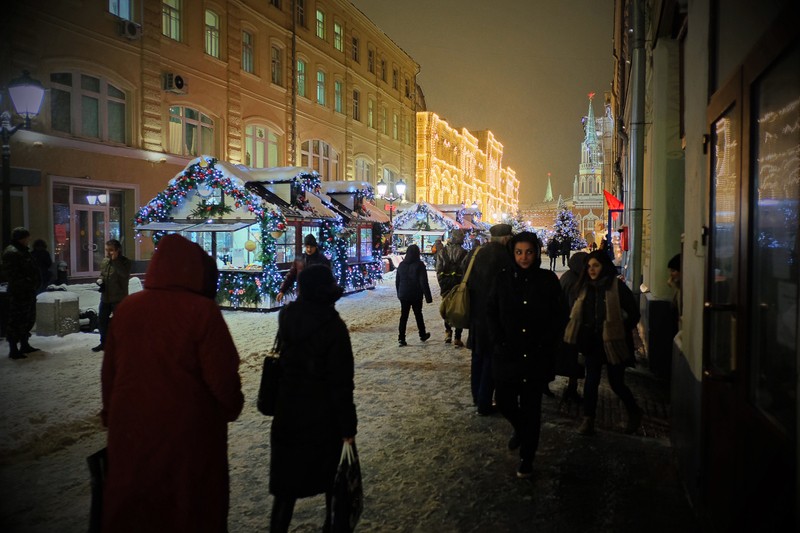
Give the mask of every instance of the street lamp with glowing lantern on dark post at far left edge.
M 27 70 L 22 71 L 22 76 L 8 83 L 8 94 L 11 103 L 18 115 L 25 118 L 25 122 L 16 126 L 11 125 L 11 113 L 3 111 L 0 114 L 0 136 L 3 141 L 3 246 L 11 238 L 11 136 L 21 127 L 31 128 L 31 118 L 39 114 L 44 100 L 44 87 L 30 77 Z

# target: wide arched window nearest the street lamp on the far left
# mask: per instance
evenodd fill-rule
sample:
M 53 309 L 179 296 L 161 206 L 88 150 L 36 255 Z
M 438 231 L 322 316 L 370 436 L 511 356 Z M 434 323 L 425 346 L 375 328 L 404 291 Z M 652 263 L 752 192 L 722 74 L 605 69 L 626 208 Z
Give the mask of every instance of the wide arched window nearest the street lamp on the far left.
M 50 127 L 78 137 L 126 140 L 126 96 L 105 79 L 78 72 L 50 75 Z

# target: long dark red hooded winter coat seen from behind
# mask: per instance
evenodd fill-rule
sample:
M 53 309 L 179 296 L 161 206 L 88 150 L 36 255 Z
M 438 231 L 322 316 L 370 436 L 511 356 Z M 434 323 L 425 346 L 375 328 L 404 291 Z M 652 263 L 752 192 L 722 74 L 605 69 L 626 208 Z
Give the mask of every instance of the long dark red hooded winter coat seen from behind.
M 103 531 L 226 531 L 228 422 L 244 397 L 212 299 L 216 273 L 198 245 L 168 235 L 144 290 L 114 310 L 102 367 Z

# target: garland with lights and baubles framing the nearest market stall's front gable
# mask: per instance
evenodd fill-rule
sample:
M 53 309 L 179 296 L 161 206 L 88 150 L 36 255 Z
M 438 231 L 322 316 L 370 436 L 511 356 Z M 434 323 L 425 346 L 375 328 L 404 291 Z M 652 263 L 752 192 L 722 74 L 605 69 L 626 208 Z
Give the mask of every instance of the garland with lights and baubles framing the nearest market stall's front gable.
M 249 191 L 238 187 L 233 180 L 216 168 L 215 158 L 200 158 L 200 161 L 189 166 L 183 173 L 170 183 L 166 190 L 158 193 L 155 198 L 143 206 L 135 217 L 138 225 L 147 222 L 164 222 L 170 219 L 173 209 L 183 203 L 186 197 L 200 185 L 212 189 L 220 189 L 222 193 L 233 200 L 235 208 L 246 208 L 253 213 L 261 229 L 261 250 L 258 258 L 263 268 L 259 273 L 222 272 L 217 282 L 217 300 L 227 300 L 231 307 L 238 308 L 242 305 L 258 305 L 265 296 L 274 297 L 283 281 L 275 263 L 276 247 L 273 231 L 286 230 L 286 218 L 277 210 L 267 209 L 261 204 L 261 199 Z M 313 179 L 304 180 L 303 183 L 313 183 Z M 210 215 L 207 208 L 213 206 Z M 214 211 L 217 208 L 217 211 Z M 221 209 L 220 209 L 221 208 Z M 198 218 L 218 216 L 216 213 L 229 214 L 233 212 L 230 206 L 208 204 L 202 200 L 198 207 L 190 213 L 197 216 L 198 210 L 204 210 Z M 158 241 L 166 235 L 164 231 L 153 232 L 153 243 L 158 246 Z

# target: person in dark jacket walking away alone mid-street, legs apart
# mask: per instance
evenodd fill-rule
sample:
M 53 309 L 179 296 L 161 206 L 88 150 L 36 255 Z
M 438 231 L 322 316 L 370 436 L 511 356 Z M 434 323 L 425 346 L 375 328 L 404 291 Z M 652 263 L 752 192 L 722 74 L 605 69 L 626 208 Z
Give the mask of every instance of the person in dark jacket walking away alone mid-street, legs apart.
M 395 274 L 395 288 L 397 298 L 400 300 L 400 327 L 397 337 L 398 344 L 407 346 L 406 325 L 408 324 L 409 311 L 414 311 L 417 321 L 419 340 L 425 342 L 431 334 L 425 329 L 425 318 L 422 316 L 422 299 L 428 303 L 433 302 L 431 288 L 428 286 L 428 272 L 425 263 L 420 259 L 419 246 L 412 244 L 406 250 L 406 256 L 397 267 Z

